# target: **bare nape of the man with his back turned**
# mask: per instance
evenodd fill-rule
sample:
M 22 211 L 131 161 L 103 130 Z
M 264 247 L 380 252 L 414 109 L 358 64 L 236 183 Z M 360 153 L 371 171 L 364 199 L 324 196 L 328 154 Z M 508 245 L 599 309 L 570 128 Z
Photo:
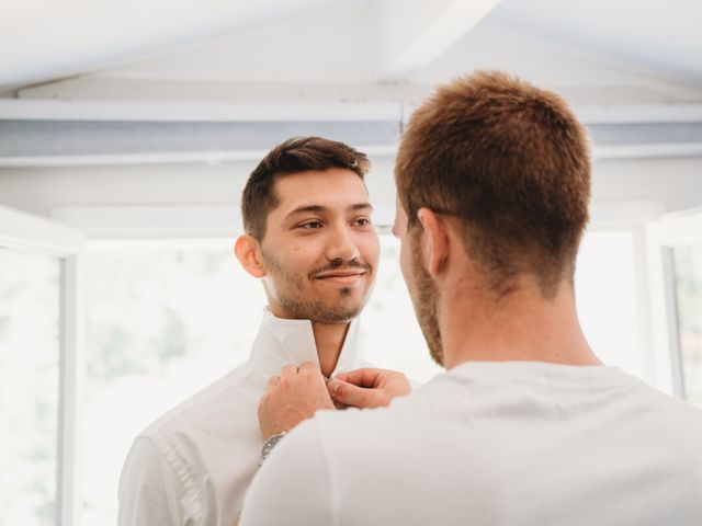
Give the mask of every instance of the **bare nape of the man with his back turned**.
M 570 285 L 550 299 L 535 284 L 499 300 L 456 290 L 438 307 L 446 368 L 467 361 L 601 365 L 580 329 Z

